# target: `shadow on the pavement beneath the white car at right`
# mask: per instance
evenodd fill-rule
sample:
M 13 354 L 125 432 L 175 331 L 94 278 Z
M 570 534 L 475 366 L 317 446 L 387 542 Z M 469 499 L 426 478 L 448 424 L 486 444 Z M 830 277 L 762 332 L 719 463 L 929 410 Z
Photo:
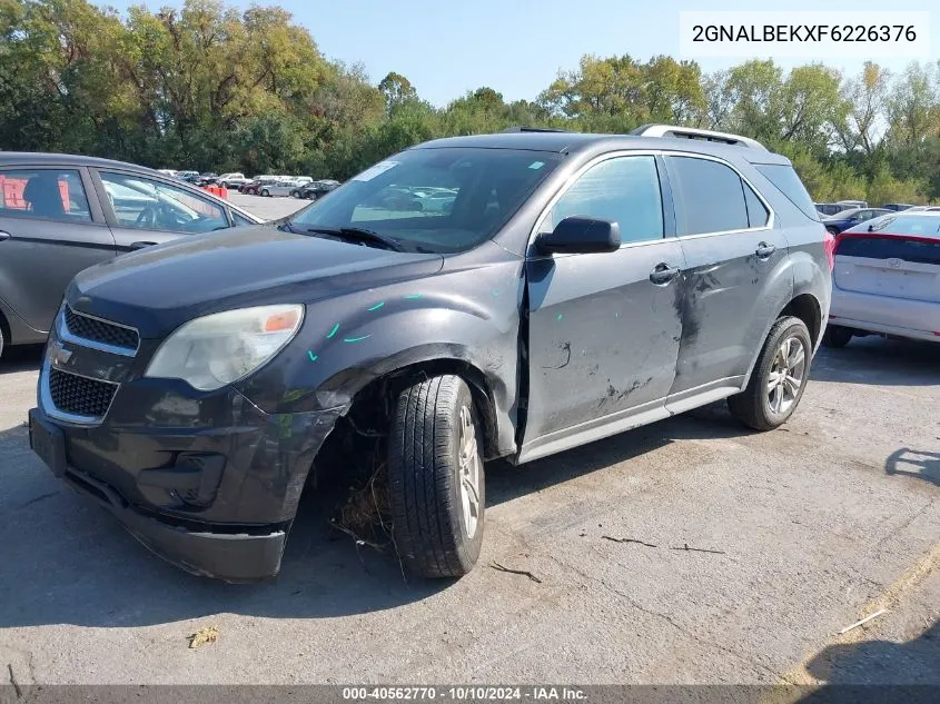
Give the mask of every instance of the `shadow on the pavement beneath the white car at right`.
M 940 345 L 862 337 L 842 349 L 820 348 L 811 378 L 874 386 L 932 386 L 940 381 Z

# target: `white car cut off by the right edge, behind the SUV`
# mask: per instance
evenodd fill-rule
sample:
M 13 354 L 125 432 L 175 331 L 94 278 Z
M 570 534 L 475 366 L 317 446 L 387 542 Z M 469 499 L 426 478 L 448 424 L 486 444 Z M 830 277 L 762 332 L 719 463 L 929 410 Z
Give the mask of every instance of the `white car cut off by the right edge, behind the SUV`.
M 835 238 L 833 256 L 827 347 L 865 335 L 940 343 L 940 212 L 862 222 Z

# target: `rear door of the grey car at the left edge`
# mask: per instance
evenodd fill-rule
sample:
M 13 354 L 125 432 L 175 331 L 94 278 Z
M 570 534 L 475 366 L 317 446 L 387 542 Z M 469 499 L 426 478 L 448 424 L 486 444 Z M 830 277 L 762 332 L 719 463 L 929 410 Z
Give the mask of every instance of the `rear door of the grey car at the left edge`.
M 47 333 L 76 274 L 112 258 L 115 239 L 82 167 L 0 168 L 0 298 Z

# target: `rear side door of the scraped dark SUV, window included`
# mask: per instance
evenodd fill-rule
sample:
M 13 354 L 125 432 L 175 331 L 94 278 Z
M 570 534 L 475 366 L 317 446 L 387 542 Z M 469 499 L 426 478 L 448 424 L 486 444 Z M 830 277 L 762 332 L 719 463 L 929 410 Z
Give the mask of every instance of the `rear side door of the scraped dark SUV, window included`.
M 790 300 L 792 280 L 784 232 L 738 170 L 704 156 L 665 161 L 686 266 L 682 343 L 667 401 L 679 413 L 686 399 L 721 397 L 742 385 L 768 325 Z

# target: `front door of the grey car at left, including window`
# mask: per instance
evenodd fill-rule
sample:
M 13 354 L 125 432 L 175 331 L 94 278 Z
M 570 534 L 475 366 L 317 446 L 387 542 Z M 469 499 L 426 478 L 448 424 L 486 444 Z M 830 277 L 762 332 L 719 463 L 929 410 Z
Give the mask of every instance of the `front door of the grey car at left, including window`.
M 231 227 L 224 207 L 188 188 L 133 172 L 96 176 L 119 252 Z

